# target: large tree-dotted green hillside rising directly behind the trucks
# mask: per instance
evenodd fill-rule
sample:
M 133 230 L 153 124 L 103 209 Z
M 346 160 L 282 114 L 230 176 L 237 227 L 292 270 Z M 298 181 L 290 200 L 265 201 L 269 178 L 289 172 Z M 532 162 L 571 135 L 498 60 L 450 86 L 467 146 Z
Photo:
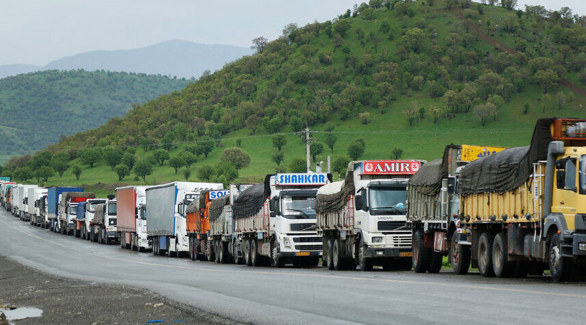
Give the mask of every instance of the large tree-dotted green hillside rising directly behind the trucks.
M 452 142 L 526 145 L 541 116 L 586 117 L 585 23 L 567 10 L 373 0 L 332 21 L 287 25 L 278 40 L 257 39 L 256 55 L 32 159 L 12 159 L 5 174 L 32 178 L 35 169 L 51 165 L 49 156 L 61 155 L 82 166 L 82 174 L 77 180 L 70 168 L 49 177 L 50 184 L 119 183 L 105 161 L 89 167 L 80 157 L 130 151 L 154 162 L 154 153 L 167 148 L 169 157 L 200 154 L 188 179 L 227 182 L 236 172 L 220 164 L 221 153 L 240 144 L 250 164 L 239 170 L 239 180 L 260 179 L 299 168 L 291 163 L 304 159 L 305 143 L 294 132 L 305 125 L 318 131 L 312 137 L 323 145 L 317 161 L 330 155 L 336 169 L 350 159 L 349 146 L 361 159 L 388 159 L 395 148 L 402 158 L 434 159 Z M 271 159 L 275 134 L 287 140 L 280 167 Z M 332 135 L 333 153 L 326 145 Z M 362 154 L 361 142 L 353 144 L 358 138 Z M 208 157 L 201 154 L 206 144 Z M 146 180 L 184 179 L 185 169 L 175 174 L 167 160 L 154 164 Z M 120 182 L 143 180 L 130 172 Z

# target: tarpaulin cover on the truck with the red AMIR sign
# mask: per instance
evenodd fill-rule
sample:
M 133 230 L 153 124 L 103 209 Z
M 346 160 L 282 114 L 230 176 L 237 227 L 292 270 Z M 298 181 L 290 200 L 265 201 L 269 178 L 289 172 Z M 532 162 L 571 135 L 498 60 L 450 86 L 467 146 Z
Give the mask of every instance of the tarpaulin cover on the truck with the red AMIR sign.
M 343 181 L 324 185 L 317 191 L 317 199 L 315 203 L 315 211 L 317 211 L 317 213 L 340 211 L 343 209 L 348 196 L 356 193 L 356 190 L 354 189 L 354 168 L 360 165 L 363 161 L 364 160 L 350 161 L 346 169 L 346 178 Z M 333 190 L 338 187 L 339 190 L 334 192 Z M 321 189 L 328 190 L 329 192 L 323 192 Z

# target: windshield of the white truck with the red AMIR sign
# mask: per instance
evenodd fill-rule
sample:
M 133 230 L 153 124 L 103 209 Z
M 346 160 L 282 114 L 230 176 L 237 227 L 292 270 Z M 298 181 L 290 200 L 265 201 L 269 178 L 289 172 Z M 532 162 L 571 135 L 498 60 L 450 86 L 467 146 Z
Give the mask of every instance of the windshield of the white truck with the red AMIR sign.
M 406 213 L 405 187 L 369 187 L 368 196 L 368 207 L 372 215 Z

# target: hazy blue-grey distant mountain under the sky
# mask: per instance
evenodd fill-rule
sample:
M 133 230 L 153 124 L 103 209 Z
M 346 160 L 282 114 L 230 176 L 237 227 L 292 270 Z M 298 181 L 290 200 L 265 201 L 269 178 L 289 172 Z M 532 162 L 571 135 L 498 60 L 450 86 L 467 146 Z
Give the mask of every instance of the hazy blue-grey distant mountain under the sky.
M 168 40 L 139 49 L 84 52 L 49 62 L 46 66 L 8 64 L 0 66 L 0 78 L 39 70 L 80 68 L 88 71 L 127 71 L 197 78 L 204 70 L 217 70 L 228 62 L 252 53 L 251 49 L 245 47 Z

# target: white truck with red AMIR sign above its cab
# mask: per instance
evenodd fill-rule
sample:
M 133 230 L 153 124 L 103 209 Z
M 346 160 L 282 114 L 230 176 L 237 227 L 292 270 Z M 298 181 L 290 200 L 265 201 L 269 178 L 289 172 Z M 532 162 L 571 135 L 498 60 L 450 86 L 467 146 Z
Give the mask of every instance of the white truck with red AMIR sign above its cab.
M 317 229 L 330 270 L 411 270 L 407 182 L 424 161 L 351 161 L 345 179 L 317 192 Z

